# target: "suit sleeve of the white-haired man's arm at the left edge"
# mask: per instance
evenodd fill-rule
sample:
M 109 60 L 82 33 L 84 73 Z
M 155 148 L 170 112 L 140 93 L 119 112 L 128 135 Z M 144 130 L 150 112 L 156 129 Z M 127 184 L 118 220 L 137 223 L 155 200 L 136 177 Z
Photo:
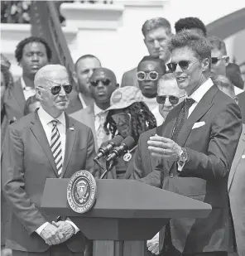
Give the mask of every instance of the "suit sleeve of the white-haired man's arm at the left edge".
M 2 191 L 28 234 L 46 223 L 46 218 L 25 191 L 24 145 L 17 129 L 8 127 L 2 151 Z

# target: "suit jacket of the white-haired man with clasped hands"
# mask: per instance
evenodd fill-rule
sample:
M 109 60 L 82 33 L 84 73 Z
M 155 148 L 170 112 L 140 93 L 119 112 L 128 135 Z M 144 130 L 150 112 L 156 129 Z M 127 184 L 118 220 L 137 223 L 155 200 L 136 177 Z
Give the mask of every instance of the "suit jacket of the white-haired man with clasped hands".
M 61 178 L 70 178 L 79 170 L 93 172 L 95 151 L 90 128 L 66 115 L 65 118 L 66 144 Z M 54 157 L 38 114 L 28 114 L 9 125 L 2 151 L 2 191 L 12 209 L 7 248 L 27 252 L 49 249 L 35 232 L 47 221 L 57 218 L 41 209 L 47 178 L 58 178 Z M 65 244 L 73 252 L 83 252 L 89 241 L 79 231 Z

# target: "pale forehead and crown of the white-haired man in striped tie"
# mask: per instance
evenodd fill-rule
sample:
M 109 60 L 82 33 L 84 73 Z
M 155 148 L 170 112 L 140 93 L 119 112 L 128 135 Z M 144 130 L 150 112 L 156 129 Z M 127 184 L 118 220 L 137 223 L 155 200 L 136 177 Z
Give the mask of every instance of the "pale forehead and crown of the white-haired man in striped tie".
M 50 80 L 69 80 L 68 72 L 64 65 L 45 65 L 36 72 L 34 78 L 35 88 L 46 85 Z

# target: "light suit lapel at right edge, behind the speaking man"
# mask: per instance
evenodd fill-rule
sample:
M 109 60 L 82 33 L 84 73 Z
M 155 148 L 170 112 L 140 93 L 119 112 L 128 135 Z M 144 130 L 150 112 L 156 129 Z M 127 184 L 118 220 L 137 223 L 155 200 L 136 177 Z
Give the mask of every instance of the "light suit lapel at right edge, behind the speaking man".
M 235 157 L 233 159 L 233 164 L 228 176 L 228 191 L 230 190 L 230 187 L 233 183 L 233 177 L 237 170 L 238 163 L 241 161 L 241 157 L 243 156 L 244 152 L 245 152 L 245 124 L 243 124 L 243 133 L 241 134 L 241 138 L 238 143 L 238 148 L 237 148 Z

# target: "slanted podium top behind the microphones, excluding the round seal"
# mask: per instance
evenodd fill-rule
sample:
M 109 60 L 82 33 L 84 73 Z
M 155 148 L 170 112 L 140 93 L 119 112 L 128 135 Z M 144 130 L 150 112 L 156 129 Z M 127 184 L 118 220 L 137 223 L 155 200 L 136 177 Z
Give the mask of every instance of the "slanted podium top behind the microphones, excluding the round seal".
M 97 180 L 96 201 L 85 214 L 67 202 L 70 179 L 47 179 L 41 207 L 58 215 L 98 218 L 205 218 L 211 205 L 139 181 Z

